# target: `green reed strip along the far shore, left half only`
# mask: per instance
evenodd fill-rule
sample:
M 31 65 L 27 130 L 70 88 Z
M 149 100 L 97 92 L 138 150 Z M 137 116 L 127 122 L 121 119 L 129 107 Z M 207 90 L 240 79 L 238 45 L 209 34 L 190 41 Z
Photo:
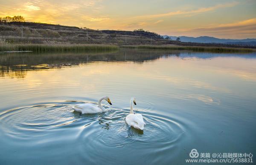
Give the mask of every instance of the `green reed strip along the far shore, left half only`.
M 113 51 L 117 46 L 103 44 L 0 44 L 0 51 Z

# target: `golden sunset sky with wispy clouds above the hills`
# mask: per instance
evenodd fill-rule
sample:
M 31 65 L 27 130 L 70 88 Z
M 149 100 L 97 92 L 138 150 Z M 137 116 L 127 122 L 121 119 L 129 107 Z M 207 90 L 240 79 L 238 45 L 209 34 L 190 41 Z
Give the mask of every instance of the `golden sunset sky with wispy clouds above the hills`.
M 161 35 L 256 38 L 256 0 L 0 0 L 0 17 Z

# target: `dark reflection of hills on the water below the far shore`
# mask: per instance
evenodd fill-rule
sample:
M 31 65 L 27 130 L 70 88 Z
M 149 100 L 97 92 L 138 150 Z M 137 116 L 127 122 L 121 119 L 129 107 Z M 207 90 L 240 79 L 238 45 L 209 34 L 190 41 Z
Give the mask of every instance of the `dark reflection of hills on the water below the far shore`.
M 256 57 L 255 53 L 214 54 L 207 52 L 142 49 L 120 49 L 119 51 L 91 53 L 3 53 L 0 55 L 0 77 L 24 78 L 27 71 L 61 68 L 64 66 L 79 65 L 80 63 L 90 63 L 96 61 L 133 61 L 136 63 L 144 63 L 148 60 L 157 60 L 160 57 L 169 56 L 176 56 L 182 60 L 210 59 L 215 57 Z

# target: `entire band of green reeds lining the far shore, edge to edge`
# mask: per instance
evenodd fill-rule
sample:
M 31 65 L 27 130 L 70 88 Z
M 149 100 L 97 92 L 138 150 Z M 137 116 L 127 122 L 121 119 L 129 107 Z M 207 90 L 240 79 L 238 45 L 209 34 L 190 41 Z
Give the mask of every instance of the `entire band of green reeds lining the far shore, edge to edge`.
M 137 46 L 115 46 L 105 44 L 0 44 L 0 51 L 33 51 L 33 52 L 54 52 L 54 51 L 114 51 L 119 48 L 138 49 L 162 49 L 162 50 L 185 50 L 185 51 L 209 51 L 223 53 L 250 53 L 256 51 L 253 48 L 232 48 L 213 46 L 177 46 L 177 45 L 137 45 Z

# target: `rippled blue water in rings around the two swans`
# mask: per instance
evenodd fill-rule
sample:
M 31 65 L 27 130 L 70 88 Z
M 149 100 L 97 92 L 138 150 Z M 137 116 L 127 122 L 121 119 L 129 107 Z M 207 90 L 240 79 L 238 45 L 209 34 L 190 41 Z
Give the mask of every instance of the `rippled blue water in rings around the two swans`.
M 117 101 L 120 100 L 113 100 Z M 83 102 L 69 100 L 5 111 L 0 114 L 0 132 L 11 139 L 23 141 L 23 145 L 31 143 L 34 147 L 47 143 L 55 145 L 64 138 L 74 145 L 74 152 L 80 160 L 90 160 L 90 163 L 99 159 L 103 161 L 106 157 L 100 156 L 102 152 L 113 148 L 132 146 L 136 150 L 143 147 L 148 149 L 147 154 L 152 155 L 175 148 L 185 136 L 184 124 L 152 112 L 153 105 L 149 102 L 137 102 L 145 107 L 137 108 L 137 113 L 143 114 L 146 123 L 144 131 L 130 128 L 125 123 L 130 111 L 127 105 L 113 106 L 104 113 L 80 114 L 70 106 Z M 155 150 L 151 151 L 151 148 Z

